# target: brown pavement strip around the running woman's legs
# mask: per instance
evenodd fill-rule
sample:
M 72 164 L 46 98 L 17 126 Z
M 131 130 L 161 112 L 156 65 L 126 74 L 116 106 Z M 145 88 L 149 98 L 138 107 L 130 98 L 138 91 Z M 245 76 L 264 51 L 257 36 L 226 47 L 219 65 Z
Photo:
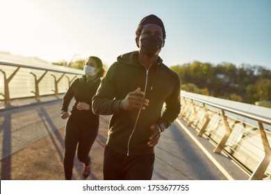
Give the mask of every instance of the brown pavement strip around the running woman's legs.
M 103 179 L 102 164 L 107 123 L 101 122 L 99 134 L 90 151 L 92 172 L 88 179 Z M 1 160 L 2 180 L 63 180 L 64 128 Z M 74 158 L 74 180 L 83 179 L 82 164 Z

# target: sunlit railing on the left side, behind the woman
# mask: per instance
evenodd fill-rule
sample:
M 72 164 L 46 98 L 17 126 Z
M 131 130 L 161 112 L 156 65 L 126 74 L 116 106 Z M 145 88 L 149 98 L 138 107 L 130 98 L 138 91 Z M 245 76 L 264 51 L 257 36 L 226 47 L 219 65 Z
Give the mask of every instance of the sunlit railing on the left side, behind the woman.
M 58 67 L 33 67 L 0 61 L 0 100 L 10 105 L 11 100 L 65 93 L 77 76 L 83 75 L 79 69 Z M 2 77 L 3 76 L 3 77 Z M 67 78 L 67 79 L 63 79 Z

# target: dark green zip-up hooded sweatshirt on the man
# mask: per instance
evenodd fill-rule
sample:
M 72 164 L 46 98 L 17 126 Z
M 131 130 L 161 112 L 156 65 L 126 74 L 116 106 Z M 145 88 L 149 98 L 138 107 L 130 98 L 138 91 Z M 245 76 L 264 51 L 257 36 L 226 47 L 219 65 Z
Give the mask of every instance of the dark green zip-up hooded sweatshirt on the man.
M 120 110 L 121 100 L 138 87 L 145 91 L 149 105 L 144 110 Z M 113 115 L 107 146 L 122 155 L 154 153 L 154 148 L 147 145 L 151 136 L 150 127 L 155 123 L 164 123 L 165 127 L 169 127 L 177 118 L 181 110 L 180 87 L 179 76 L 165 66 L 161 58 L 147 69 L 138 61 L 138 51 L 120 55 L 92 98 L 95 114 Z

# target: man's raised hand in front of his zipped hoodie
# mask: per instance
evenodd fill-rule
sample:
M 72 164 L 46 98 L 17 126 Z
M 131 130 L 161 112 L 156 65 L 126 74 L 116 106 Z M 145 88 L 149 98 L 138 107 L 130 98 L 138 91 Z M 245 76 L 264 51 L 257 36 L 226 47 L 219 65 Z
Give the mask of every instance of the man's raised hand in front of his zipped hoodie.
M 144 92 L 140 91 L 140 88 L 135 91 L 129 92 L 127 96 L 120 102 L 121 110 L 130 110 L 130 109 L 145 109 L 149 105 L 149 100 L 144 98 Z

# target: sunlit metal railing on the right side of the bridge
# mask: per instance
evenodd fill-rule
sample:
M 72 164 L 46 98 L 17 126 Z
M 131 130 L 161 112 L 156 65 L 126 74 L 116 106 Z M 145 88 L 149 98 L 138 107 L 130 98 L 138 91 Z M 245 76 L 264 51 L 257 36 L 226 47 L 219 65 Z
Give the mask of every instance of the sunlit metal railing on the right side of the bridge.
M 213 152 L 226 153 L 247 171 L 249 179 L 270 179 L 271 118 L 181 93 L 181 118 L 198 131 L 198 136 L 215 143 Z

